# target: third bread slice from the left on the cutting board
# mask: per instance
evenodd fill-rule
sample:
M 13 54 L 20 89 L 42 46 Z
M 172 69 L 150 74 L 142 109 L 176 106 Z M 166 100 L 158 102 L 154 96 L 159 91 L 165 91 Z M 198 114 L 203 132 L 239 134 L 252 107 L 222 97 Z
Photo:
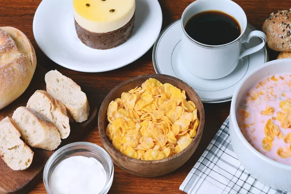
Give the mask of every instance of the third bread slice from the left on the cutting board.
M 26 107 L 44 115 L 50 122 L 56 125 L 60 136 L 65 139 L 70 134 L 69 117 L 65 105 L 55 99 L 44 90 L 36 90 L 29 98 Z

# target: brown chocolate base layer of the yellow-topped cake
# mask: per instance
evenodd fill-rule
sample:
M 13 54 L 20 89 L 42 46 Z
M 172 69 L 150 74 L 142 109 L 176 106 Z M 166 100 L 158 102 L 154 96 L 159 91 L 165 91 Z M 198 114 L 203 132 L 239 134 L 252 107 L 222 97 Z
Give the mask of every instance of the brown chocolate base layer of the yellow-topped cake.
M 106 33 L 90 32 L 82 28 L 75 20 L 75 28 L 79 39 L 93 49 L 111 49 L 125 43 L 133 30 L 135 14 L 123 27 Z

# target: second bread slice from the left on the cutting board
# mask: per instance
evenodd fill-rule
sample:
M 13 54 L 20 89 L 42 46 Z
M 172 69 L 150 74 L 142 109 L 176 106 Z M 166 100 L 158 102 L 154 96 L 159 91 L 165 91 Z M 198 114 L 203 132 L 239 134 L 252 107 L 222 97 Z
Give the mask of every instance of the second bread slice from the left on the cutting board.
M 56 126 L 42 114 L 27 107 L 18 107 L 12 119 L 15 120 L 22 138 L 29 146 L 54 150 L 61 144 Z

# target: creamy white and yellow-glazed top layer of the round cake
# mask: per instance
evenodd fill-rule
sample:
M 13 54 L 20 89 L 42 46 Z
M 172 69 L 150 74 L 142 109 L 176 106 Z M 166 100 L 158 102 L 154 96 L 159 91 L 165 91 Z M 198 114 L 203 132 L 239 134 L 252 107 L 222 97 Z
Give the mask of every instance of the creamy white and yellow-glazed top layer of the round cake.
M 96 33 L 123 27 L 135 12 L 135 0 L 73 0 L 73 6 L 76 22 Z

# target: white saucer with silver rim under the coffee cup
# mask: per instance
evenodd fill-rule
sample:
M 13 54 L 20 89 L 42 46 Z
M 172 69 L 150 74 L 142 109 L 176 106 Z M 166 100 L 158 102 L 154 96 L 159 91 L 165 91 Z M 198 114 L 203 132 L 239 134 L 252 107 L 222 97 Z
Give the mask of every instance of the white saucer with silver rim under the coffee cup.
M 189 73 L 178 57 L 182 35 L 181 20 L 178 19 L 163 30 L 155 43 L 153 64 L 157 73 L 174 76 L 191 85 L 202 102 L 218 103 L 230 101 L 237 84 L 252 69 L 268 61 L 267 49 L 244 57 L 237 68 L 228 76 L 218 80 L 204 80 Z M 246 34 L 255 28 L 248 24 Z M 252 48 L 260 43 L 259 38 L 252 38 L 250 43 L 244 43 L 242 50 Z

